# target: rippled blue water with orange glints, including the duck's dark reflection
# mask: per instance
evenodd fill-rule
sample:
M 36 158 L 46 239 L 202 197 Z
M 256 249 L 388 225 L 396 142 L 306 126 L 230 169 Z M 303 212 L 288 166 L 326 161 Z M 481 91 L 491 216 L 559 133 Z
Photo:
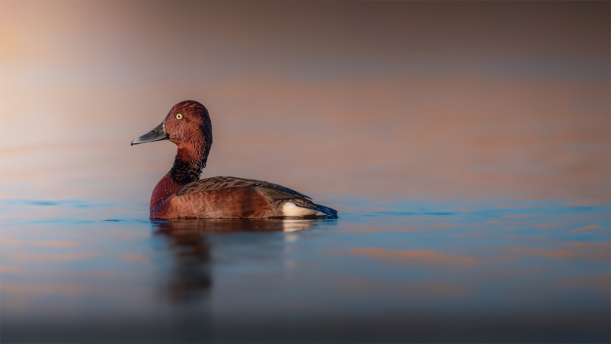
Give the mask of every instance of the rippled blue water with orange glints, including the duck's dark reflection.
M 2 342 L 611 340 L 608 206 L 352 209 L 169 222 L 3 200 Z

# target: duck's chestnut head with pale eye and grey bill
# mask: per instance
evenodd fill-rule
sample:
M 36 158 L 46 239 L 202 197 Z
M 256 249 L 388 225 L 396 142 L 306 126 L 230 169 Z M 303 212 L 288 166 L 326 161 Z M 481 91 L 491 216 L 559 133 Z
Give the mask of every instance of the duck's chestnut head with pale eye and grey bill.
M 131 141 L 131 145 L 161 140 L 178 146 L 177 158 L 205 167 L 212 145 L 212 124 L 206 107 L 195 100 L 174 105 L 161 124 Z

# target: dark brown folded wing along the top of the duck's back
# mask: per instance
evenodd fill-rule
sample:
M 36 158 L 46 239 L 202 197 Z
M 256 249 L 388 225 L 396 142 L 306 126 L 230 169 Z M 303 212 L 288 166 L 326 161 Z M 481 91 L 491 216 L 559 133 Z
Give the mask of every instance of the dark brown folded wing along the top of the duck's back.
M 293 198 L 300 198 L 303 200 L 312 199 L 301 192 L 296 192 L 295 190 L 288 189 L 288 187 L 284 187 L 282 185 L 264 181 L 256 181 L 255 179 L 235 177 L 212 177 L 200 179 L 199 181 L 194 181 L 181 187 L 176 195 L 182 196 L 200 191 L 229 189 L 230 187 L 254 187 L 262 192 L 263 195 L 268 196 L 274 201 L 289 200 Z

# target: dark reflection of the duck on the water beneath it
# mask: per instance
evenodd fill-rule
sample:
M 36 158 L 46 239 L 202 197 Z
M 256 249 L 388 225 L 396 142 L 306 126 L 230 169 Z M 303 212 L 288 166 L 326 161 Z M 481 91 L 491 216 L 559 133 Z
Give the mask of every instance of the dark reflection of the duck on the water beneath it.
M 211 290 L 210 237 L 241 231 L 294 232 L 307 230 L 319 219 L 194 219 L 152 222 L 155 234 L 167 242 L 172 271 L 163 294 L 170 302 L 191 302 Z

